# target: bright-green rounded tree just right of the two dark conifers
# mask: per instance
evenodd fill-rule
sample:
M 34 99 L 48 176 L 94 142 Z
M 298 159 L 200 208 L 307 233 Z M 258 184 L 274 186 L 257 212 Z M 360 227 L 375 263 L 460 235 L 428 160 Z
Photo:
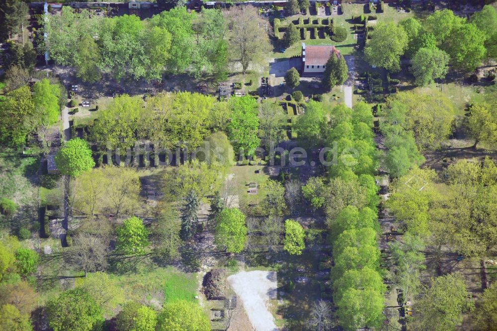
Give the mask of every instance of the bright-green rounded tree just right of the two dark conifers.
M 245 215 L 238 208 L 225 208 L 216 217 L 214 242 L 232 253 L 241 252 L 247 242 Z

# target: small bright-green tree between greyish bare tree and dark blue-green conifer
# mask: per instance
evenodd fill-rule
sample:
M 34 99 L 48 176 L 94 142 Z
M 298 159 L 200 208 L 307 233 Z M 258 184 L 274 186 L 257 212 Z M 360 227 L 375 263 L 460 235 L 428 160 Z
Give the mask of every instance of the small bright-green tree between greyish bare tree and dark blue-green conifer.
M 117 249 L 125 254 L 143 254 L 150 245 L 149 231 L 143 225 L 143 220 L 136 216 L 124 220 L 116 232 Z

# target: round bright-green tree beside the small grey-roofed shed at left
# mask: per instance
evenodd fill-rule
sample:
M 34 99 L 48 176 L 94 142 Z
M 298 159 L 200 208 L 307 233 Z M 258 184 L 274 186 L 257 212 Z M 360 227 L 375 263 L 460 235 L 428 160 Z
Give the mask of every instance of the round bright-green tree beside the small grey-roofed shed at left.
M 88 143 L 80 138 L 64 142 L 55 156 L 55 165 L 64 175 L 78 177 L 95 166 Z

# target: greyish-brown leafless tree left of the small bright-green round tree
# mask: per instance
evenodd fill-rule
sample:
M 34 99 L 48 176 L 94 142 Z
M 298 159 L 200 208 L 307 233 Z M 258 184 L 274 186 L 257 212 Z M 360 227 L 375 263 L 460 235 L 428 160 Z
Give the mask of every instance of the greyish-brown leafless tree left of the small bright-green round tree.
M 73 241 L 74 246 L 70 248 L 68 257 L 74 265 L 84 270 L 84 277 L 88 271 L 102 271 L 107 267 L 107 240 L 82 233 L 76 235 Z

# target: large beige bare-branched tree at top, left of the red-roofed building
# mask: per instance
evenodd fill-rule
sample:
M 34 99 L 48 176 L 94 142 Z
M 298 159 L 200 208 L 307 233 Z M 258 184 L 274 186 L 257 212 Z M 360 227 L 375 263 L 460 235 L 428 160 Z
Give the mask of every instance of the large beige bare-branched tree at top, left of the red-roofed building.
M 232 60 L 242 65 L 245 74 L 250 65 L 264 63 L 271 49 L 269 23 L 252 6 L 233 6 L 225 15 Z

